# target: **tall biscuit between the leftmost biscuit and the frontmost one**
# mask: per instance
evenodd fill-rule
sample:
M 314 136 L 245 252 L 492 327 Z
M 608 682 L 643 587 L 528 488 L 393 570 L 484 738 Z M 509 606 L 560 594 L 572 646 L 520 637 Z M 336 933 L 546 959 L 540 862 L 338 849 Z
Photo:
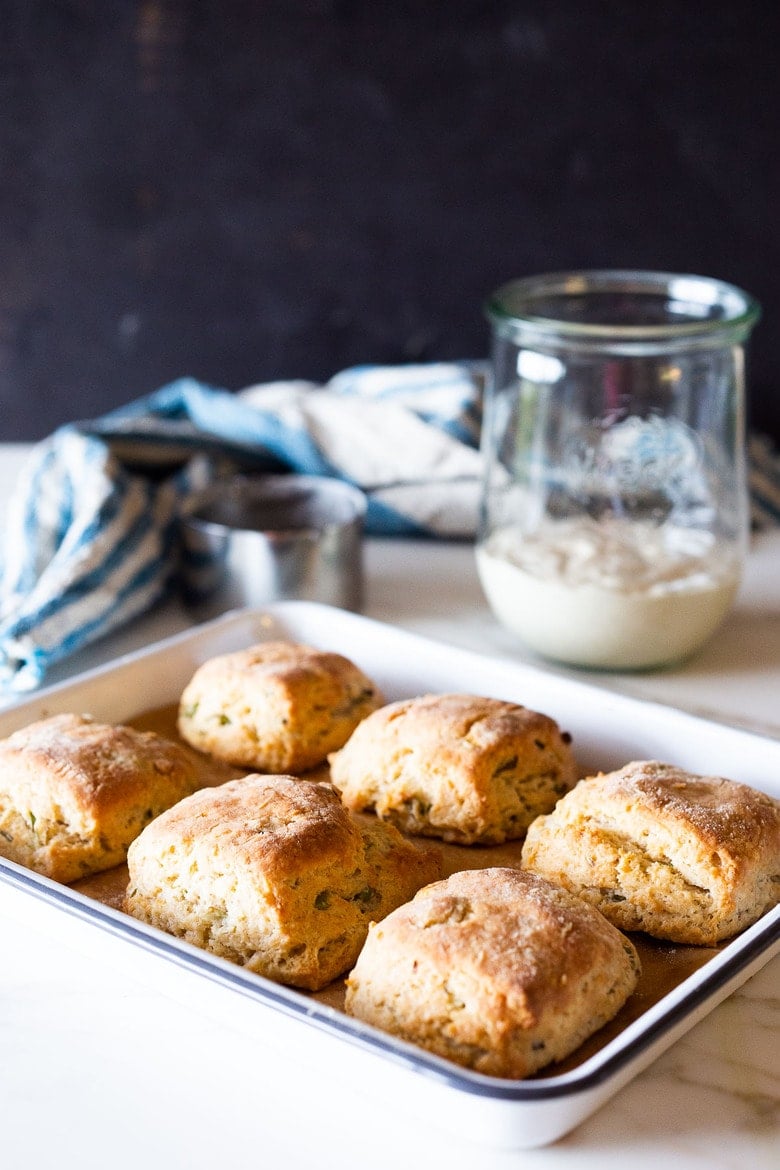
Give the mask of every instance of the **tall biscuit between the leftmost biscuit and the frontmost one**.
M 127 866 L 130 914 L 311 991 L 348 970 L 372 918 L 441 873 L 437 851 L 363 824 L 330 784 L 260 775 L 158 817 Z

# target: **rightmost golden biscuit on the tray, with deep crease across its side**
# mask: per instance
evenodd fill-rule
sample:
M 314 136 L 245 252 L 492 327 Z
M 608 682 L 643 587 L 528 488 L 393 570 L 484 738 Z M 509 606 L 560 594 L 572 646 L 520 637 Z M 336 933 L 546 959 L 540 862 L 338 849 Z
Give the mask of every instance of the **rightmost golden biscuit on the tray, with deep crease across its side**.
M 534 821 L 522 856 L 623 930 L 713 945 L 780 901 L 780 803 L 634 762 L 581 780 Z

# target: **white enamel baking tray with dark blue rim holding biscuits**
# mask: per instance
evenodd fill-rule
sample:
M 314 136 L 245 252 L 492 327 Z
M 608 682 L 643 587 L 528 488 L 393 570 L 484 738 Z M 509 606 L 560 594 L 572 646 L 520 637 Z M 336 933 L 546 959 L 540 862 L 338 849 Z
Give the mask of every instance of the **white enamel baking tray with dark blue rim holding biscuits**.
M 578 760 L 588 771 L 637 758 L 664 759 L 780 797 L 780 741 L 301 601 L 228 614 L 39 691 L 0 714 L 0 736 L 56 711 L 89 711 L 109 722 L 133 718 L 175 702 L 206 659 L 279 636 L 346 654 L 388 700 L 468 690 L 543 710 L 572 732 Z M 0 882 L 26 922 L 116 958 L 161 991 L 240 1027 L 258 1046 L 282 1046 L 309 1071 L 320 1069 L 319 1092 L 331 1094 L 333 1115 L 346 1116 L 352 1095 L 367 1093 L 450 1135 L 510 1149 L 544 1145 L 573 1129 L 780 951 L 776 907 L 581 1064 L 544 1079 L 508 1081 L 396 1041 L 327 1003 L 246 972 L 2 859 Z M 258 1061 L 258 1079 L 263 1067 Z M 345 1088 L 351 1090 L 346 1095 Z

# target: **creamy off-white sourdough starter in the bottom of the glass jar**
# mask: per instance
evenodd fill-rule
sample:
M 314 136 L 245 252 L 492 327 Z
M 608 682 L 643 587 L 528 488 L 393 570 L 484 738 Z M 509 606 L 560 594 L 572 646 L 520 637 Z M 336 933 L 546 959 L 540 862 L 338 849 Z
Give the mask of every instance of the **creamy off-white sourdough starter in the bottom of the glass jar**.
M 739 585 L 731 546 L 710 532 L 589 517 L 547 519 L 477 548 L 497 618 L 548 659 L 602 669 L 685 658 L 723 621 Z

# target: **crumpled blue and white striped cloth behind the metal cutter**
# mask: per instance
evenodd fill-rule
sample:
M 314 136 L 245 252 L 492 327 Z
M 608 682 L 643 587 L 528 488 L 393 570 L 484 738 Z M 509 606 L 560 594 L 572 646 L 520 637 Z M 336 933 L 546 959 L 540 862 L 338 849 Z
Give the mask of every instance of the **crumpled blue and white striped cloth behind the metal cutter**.
M 39 443 L 8 503 L 0 686 L 39 686 L 58 659 L 149 608 L 177 563 L 177 523 L 227 468 L 347 480 L 366 529 L 469 537 L 484 367 L 360 367 L 325 386 L 239 394 L 184 378 Z

